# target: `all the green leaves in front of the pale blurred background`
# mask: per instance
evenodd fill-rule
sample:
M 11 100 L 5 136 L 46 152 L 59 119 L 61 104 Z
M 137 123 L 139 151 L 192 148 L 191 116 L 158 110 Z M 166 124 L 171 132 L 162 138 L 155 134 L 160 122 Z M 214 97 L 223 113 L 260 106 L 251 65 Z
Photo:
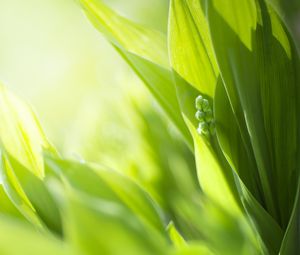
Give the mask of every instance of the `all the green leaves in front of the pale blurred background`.
M 65 159 L 1 87 L 0 253 L 299 254 L 300 66 L 277 7 L 171 0 L 164 35 L 101 0 L 80 3 L 177 127 L 198 187 L 162 164 L 165 196 Z

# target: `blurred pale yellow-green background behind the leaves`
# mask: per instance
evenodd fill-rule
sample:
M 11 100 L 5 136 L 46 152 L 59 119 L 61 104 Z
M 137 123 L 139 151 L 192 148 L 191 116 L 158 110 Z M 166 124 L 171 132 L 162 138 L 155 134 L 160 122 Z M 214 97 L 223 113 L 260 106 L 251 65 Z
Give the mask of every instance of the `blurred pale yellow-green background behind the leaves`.
M 168 0 L 106 3 L 167 30 Z M 0 80 L 33 106 L 64 156 L 126 173 L 165 208 L 194 192 L 191 152 L 76 0 L 0 0 L 0 38 Z

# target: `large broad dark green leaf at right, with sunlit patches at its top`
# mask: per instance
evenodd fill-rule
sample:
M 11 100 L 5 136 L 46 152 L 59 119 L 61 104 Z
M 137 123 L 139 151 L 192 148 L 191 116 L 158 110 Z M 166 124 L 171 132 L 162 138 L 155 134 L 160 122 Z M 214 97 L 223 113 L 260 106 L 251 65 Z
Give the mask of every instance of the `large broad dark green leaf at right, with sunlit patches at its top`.
M 241 135 L 250 137 L 264 206 L 286 226 L 299 151 L 298 56 L 264 1 L 212 0 L 207 7 L 220 73 Z

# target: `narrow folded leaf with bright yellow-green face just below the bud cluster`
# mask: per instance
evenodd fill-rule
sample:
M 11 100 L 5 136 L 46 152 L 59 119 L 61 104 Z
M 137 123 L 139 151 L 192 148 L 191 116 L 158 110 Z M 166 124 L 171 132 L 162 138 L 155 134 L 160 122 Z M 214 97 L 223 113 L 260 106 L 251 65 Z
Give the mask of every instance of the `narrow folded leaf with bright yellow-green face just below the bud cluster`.
M 202 190 L 210 199 L 212 199 L 212 201 L 218 204 L 218 206 L 220 206 L 222 210 L 226 211 L 226 213 L 228 214 L 227 217 L 229 217 L 229 221 L 234 221 L 230 218 L 234 217 L 244 222 L 243 224 L 245 224 L 248 228 L 249 239 L 253 239 L 254 235 L 253 230 L 250 229 L 250 224 L 246 219 L 246 214 L 253 213 L 254 216 L 251 216 L 253 216 L 254 219 L 252 219 L 251 217 L 250 219 L 251 221 L 255 221 L 255 224 L 261 224 L 262 222 L 264 223 L 264 226 L 266 224 L 270 224 L 270 231 L 268 231 L 269 229 L 260 229 L 264 237 L 268 236 L 269 233 L 274 231 L 271 241 L 267 240 L 267 244 L 269 244 L 269 242 L 271 242 L 271 244 L 277 242 L 278 244 L 282 236 L 280 228 L 278 227 L 277 223 L 274 222 L 262 208 L 260 208 L 258 204 L 253 205 L 253 197 L 251 196 L 251 194 L 249 194 L 248 190 L 243 186 L 243 184 L 239 183 L 240 180 L 238 176 L 233 172 L 230 165 L 226 162 L 225 158 L 222 157 L 222 152 L 219 151 L 218 141 L 216 140 L 216 138 L 211 137 L 210 139 L 208 139 L 206 137 L 200 136 L 196 132 L 194 99 L 197 94 L 193 91 L 194 89 L 180 77 L 178 77 L 177 81 L 177 84 L 179 86 L 178 91 L 180 91 L 180 93 L 178 93 L 178 96 L 179 99 L 182 99 L 181 103 L 182 109 L 184 111 L 184 116 L 186 117 L 186 122 L 188 123 L 195 141 L 197 172 Z M 194 123 L 191 123 L 192 121 Z M 240 197 L 243 199 L 243 206 L 248 206 L 247 209 L 242 206 Z M 225 211 L 223 212 L 224 217 L 226 214 Z M 206 215 L 207 214 L 209 213 L 206 212 Z M 254 226 L 256 227 L 257 225 Z M 220 228 L 222 227 L 220 226 Z M 231 229 L 230 231 L 238 231 L 238 229 Z M 224 229 L 223 234 L 225 234 L 225 232 L 226 230 Z M 227 234 L 229 234 L 229 232 Z M 253 242 L 255 243 L 255 241 Z M 256 245 L 256 249 L 263 249 L 263 247 L 259 248 L 258 244 Z M 261 244 L 261 246 L 263 246 L 263 244 Z

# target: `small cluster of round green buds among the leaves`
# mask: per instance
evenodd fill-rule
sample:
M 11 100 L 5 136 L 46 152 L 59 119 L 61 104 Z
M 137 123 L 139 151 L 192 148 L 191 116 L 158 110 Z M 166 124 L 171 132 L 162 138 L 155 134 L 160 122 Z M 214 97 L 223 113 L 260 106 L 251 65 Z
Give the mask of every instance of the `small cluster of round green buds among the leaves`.
M 197 131 L 200 135 L 214 135 L 216 132 L 216 124 L 209 101 L 201 95 L 196 98 L 196 119 L 199 121 Z

